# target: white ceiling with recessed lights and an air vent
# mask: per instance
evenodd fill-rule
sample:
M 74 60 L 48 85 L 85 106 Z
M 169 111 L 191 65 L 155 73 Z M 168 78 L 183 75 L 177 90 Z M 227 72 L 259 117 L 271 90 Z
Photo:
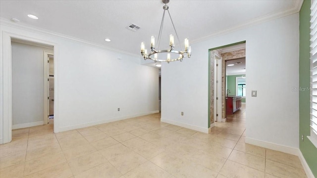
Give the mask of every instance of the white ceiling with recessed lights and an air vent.
M 296 13 L 303 0 L 170 0 L 170 15 L 179 41 L 191 44 L 211 36 Z M 158 36 L 164 4 L 161 0 L 0 0 L 0 18 L 93 45 L 140 56 L 140 44 Z M 38 20 L 29 18 L 33 14 Z M 165 15 L 161 46 L 174 31 Z M 12 22 L 12 21 L 11 21 Z M 14 22 L 12 22 L 14 23 Z M 136 32 L 126 27 L 136 24 Z M 174 35 L 175 36 L 175 35 Z M 111 42 L 105 42 L 109 38 Z M 176 47 L 179 44 L 175 39 Z M 165 47 L 164 47 L 165 48 Z M 149 50 L 149 47 L 148 47 Z M 195 55 L 195 48 L 192 48 Z

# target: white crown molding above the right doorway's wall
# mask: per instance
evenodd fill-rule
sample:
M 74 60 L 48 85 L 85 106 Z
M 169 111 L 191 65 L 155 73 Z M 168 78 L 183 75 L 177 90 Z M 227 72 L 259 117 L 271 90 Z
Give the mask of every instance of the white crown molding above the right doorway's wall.
M 281 18 L 281 17 L 285 17 L 285 16 L 288 16 L 288 15 L 292 15 L 294 13 L 298 13 L 301 10 L 303 2 L 304 2 L 304 0 L 294 0 L 294 5 L 293 5 L 292 8 L 288 8 L 288 9 L 286 9 L 284 11 L 280 11 L 280 12 L 277 12 L 277 13 L 271 13 L 271 14 L 268 14 L 268 15 L 265 15 L 265 16 L 261 16 L 261 17 L 258 17 L 256 19 L 254 19 L 254 20 L 251 20 L 251 21 L 249 21 L 247 23 L 242 23 L 240 25 L 232 26 L 231 28 L 226 28 L 226 29 L 219 30 L 218 32 L 215 32 L 215 33 L 213 33 L 211 35 L 208 35 L 206 37 L 200 38 L 198 40 L 194 40 L 194 41 L 191 42 L 191 44 L 199 43 L 199 42 L 208 40 L 208 39 L 213 38 L 213 37 L 225 35 L 225 34 L 237 31 L 237 30 L 241 30 L 241 29 L 244 29 L 244 28 L 247 28 L 247 27 L 251 27 L 251 26 L 254 26 L 254 25 L 257 25 L 257 24 L 261 24 L 261 23 L 264 23 L 264 22 L 267 22 L 267 21 L 271 21 L 271 20 L 274 20 L 274 19 L 277 19 L 277 18 Z

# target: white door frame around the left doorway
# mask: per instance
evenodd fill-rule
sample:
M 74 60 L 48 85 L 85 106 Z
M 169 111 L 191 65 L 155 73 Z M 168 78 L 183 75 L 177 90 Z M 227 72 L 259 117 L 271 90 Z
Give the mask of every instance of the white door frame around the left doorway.
M 1 71 L 0 83 L 3 84 L 0 88 L 0 103 L 1 103 L 1 114 L 0 121 L 3 122 L 1 130 L 3 131 L 3 138 L 0 139 L 0 143 L 8 143 L 12 140 L 12 47 L 11 38 L 52 45 L 54 47 L 54 133 L 58 133 L 58 45 L 52 42 L 47 42 L 40 39 L 26 37 L 10 32 L 2 32 L 2 56 L 0 58 Z M 57 101 L 57 102 L 56 102 Z

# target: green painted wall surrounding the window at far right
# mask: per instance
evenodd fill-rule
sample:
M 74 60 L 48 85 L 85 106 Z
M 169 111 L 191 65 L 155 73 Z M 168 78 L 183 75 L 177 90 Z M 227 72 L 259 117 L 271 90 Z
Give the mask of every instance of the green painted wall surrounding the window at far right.
M 304 0 L 300 11 L 299 87 L 301 88 L 310 88 L 310 7 L 311 0 Z M 307 135 L 310 135 L 309 125 L 310 91 L 300 91 L 299 147 L 314 176 L 317 177 L 317 148 L 307 138 Z

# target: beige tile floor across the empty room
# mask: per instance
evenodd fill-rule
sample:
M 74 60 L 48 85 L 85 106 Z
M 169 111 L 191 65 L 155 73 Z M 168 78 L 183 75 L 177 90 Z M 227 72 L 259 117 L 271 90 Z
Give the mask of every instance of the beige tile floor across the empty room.
M 160 114 L 53 134 L 53 124 L 12 131 L 0 145 L 1 178 L 306 178 L 297 156 L 245 143 L 245 109 L 211 134 Z

